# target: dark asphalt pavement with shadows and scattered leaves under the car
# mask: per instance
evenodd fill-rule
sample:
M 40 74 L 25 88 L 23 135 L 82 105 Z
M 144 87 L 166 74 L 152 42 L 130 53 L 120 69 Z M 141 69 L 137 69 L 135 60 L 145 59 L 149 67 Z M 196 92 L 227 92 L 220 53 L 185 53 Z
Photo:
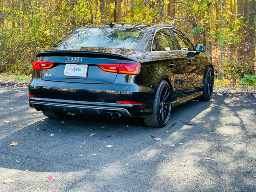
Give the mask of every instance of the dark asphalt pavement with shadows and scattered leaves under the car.
M 255 149 L 253 95 L 190 101 L 149 128 L 141 118 L 46 118 L 27 88 L 0 86 L 1 192 L 253 192 Z

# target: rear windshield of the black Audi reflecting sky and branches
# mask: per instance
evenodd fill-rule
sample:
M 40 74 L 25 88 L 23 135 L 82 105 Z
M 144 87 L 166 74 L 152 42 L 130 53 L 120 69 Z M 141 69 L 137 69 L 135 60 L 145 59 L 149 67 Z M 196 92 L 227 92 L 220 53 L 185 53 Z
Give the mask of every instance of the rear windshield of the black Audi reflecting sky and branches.
M 134 28 L 79 28 L 55 47 L 104 47 L 135 49 L 142 30 Z

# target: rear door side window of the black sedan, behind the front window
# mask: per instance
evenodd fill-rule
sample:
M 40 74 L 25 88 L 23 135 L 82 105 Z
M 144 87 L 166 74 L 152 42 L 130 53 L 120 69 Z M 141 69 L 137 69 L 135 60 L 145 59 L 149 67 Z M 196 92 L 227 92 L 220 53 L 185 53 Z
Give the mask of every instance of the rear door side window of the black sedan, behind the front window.
M 174 41 L 172 39 L 172 36 L 171 36 L 168 28 L 158 30 L 156 32 L 156 38 L 157 38 L 158 46 L 159 46 L 158 51 L 176 50 L 176 45 L 174 44 Z M 154 44 L 154 42 L 153 42 L 153 44 Z

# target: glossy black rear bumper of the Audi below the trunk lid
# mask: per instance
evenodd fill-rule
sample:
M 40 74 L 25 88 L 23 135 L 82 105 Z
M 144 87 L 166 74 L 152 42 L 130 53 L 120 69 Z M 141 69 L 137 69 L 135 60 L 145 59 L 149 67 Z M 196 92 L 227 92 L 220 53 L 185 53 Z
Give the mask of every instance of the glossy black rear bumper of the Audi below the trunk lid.
M 38 110 L 43 108 L 94 115 L 119 112 L 126 117 L 150 116 L 155 95 L 150 86 L 80 84 L 38 79 L 30 82 L 29 93 L 35 95 L 29 98 L 30 106 Z M 117 101 L 139 101 L 142 105 L 120 104 Z

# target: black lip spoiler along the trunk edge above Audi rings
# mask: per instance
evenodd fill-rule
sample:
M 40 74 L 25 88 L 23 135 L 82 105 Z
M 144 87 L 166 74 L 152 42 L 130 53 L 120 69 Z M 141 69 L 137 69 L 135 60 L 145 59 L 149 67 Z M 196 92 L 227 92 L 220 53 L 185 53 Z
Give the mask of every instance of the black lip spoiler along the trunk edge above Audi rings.
M 129 60 L 136 61 L 131 58 L 105 52 L 90 52 L 90 51 L 42 51 L 39 52 L 36 57 L 42 56 L 76 56 L 76 57 L 89 57 L 89 58 L 108 58 L 108 59 L 120 59 L 120 60 Z

